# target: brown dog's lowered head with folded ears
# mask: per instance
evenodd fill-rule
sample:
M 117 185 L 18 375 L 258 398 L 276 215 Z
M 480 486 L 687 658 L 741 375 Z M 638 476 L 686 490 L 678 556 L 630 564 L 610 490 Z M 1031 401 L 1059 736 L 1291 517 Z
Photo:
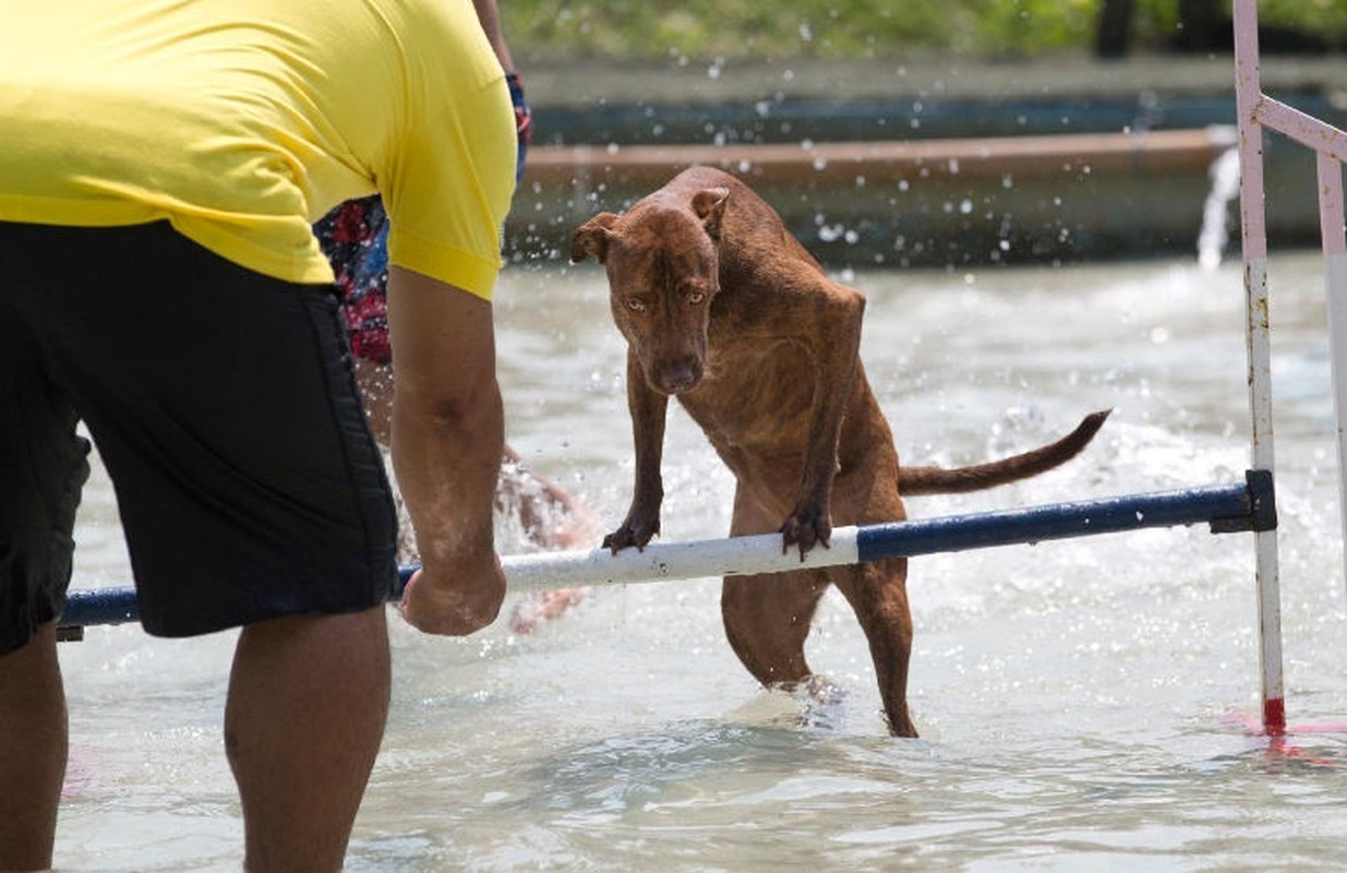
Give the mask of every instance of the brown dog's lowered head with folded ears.
M 613 321 L 660 393 L 702 381 L 729 194 L 704 189 L 690 205 L 647 198 L 625 216 L 599 213 L 571 238 L 574 263 L 593 255 L 607 269 Z

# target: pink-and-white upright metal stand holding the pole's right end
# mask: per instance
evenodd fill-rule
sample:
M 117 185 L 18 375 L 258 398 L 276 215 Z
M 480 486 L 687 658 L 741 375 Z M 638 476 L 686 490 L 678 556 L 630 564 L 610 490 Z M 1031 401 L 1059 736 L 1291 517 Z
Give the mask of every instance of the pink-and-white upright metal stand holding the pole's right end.
M 1317 156 L 1319 217 L 1328 294 L 1334 408 L 1338 422 L 1339 507 L 1343 511 L 1343 542 L 1347 544 L 1347 439 L 1343 435 L 1343 414 L 1347 412 L 1347 349 L 1343 348 L 1343 330 L 1347 329 L 1347 238 L 1344 238 L 1342 183 L 1342 162 L 1347 160 L 1347 133 L 1262 92 L 1258 62 L 1258 3 L 1235 0 L 1233 13 L 1253 466 L 1272 470 L 1274 465 L 1263 190 L 1263 129 L 1266 128 L 1313 150 Z M 1255 548 L 1263 732 L 1280 736 L 1286 730 L 1286 713 L 1276 534 L 1258 532 Z M 1344 551 L 1344 566 L 1347 566 L 1347 551 Z

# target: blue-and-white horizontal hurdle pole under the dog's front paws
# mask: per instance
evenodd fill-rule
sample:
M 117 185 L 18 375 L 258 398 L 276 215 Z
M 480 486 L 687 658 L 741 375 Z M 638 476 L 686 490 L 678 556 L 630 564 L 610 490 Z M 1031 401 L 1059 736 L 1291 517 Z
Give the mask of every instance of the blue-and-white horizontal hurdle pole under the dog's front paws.
M 617 555 L 603 548 L 537 552 L 502 559 L 511 591 L 552 587 L 669 582 L 722 575 L 785 573 L 884 558 L 966 551 L 991 546 L 1210 523 L 1214 534 L 1274 528 L 1272 474 L 1253 470 L 1245 484 L 1187 488 L 1102 500 L 1047 504 L 1001 512 L 834 528 L 828 548 L 801 556 L 781 547 L 780 534 L 718 540 L 652 543 Z M 401 589 L 416 567 L 401 567 Z M 132 587 L 70 593 L 62 628 L 137 621 Z M 77 635 L 74 635 L 77 636 Z

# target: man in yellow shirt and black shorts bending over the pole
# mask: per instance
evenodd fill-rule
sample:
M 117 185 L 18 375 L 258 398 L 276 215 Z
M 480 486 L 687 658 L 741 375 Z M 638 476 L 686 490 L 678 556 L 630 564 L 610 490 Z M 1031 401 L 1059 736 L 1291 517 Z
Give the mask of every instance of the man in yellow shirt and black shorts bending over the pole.
M 504 71 L 469 0 L 30 4 L 0 57 L 0 869 L 53 861 L 78 420 L 145 629 L 241 628 L 244 866 L 338 869 L 388 710 L 396 519 L 311 224 L 388 209 L 393 470 L 423 563 L 401 612 L 471 633 L 505 593 Z

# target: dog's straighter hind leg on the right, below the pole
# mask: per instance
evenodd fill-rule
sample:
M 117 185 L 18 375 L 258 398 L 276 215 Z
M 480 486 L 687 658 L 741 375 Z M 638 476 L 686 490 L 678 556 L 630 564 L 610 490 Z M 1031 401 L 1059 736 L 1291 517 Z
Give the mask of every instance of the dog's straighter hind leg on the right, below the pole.
M 912 656 L 912 613 L 908 609 L 907 558 L 874 560 L 834 573 L 834 582 L 851 604 L 865 630 L 874 661 L 880 698 L 889 730 L 916 737 L 908 714 L 908 661 Z

